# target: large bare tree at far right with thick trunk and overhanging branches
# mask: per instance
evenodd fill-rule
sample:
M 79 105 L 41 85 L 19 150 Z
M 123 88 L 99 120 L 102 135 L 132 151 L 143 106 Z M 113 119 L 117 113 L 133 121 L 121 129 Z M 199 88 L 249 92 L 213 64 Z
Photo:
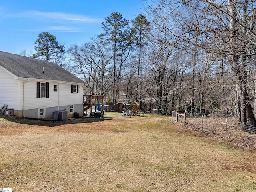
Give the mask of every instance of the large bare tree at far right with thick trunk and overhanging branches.
M 191 107 L 194 107 L 194 69 L 198 63 L 198 51 L 216 54 L 219 61 L 228 61 L 235 76 L 234 82 L 238 93 L 236 106 L 237 111 L 240 111 L 238 117 L 241 117 L 244 131 L 249 131 L 245 124 L 256 125 L 250 104 L 250 98 L 254 97 L 249 95 L 250 92 L 248 94 L 247 88 L 250 68 L 248 66 L 255 56 L 255 10 L 256 2 L 252 0 L 150 1 L 150 12 L 154 14 L 156 26 L 169 33 L 169 38 L 161 41 L 178 49 L 184 50 L 188 47 L 188 54 L 194 54 Z M 207 69 L 207 66 L 204 69 Z M 205 80 L 204 76 L 198 77 L 201 82 Z M 222 88 L 224 89 L 224 86 Z M 202 92 L 199 94 L 202 105 Z

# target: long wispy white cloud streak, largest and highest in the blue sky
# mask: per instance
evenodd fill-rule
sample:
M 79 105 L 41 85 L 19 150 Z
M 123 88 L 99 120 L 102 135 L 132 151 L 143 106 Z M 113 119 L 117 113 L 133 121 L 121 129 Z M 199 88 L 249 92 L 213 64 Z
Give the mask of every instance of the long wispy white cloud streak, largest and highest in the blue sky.
M 8 16 L 33 18 L 33 19 L 47 18 L 47 19 L 63 20 L 63 21 L 70 21 L 70 22 L 86 22 L 86 23 L 99 22 L 98 19 L 90 18 L 84 15 L 66 14 L 66 13 L 60 13 L 60 12 L 24 11 L 17 14 L 11 14 Z

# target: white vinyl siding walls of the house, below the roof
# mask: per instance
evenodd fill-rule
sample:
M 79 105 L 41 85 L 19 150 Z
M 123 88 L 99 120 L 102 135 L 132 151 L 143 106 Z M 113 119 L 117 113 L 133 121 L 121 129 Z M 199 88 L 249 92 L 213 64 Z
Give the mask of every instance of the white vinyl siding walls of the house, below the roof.
M 73 105 L 73 112 L 81 111 L 82 85 L 78 85 L 78 93 L 73 94 L 70 92 L 70 86 L 74 83 L 49 82 L 49 98 L 37 98 L 37 82 L 46 83 L 48 81 L 19 79 L 0 66 L 0 87 L 2 90 L 0 92 L 0 106 L 7 104 L 8 108 L 13 108 L 16 111 L 34 110 L 36 116 L 32 115 L 33 118 L 48 117 L 48 109 L 54 108 L 54 110 L 58 110 L 58 106 L 60 109 L 62 109 L 63 106 L 63 108 L 66 108 L 66 110 L 70 112 L 69 106 Z M 54 91 L 56 88 L 57 91 Z M 78 109 L 76 106 L 80 105 L 81 109 Z M 44 112 L 40 112 L 40 109 L 44 109 Z M 25 114 L 28 113 L 25 112 Z

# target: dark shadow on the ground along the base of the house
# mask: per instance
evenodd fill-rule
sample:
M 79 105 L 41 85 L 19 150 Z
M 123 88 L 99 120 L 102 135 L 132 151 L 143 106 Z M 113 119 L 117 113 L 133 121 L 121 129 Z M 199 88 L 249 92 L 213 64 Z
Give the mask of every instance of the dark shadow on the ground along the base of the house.
M 67 124 L 77 124 L 77 123 L 94 123 L 101 122 L 105 120 L 111 120 L 110 117 L 80 117 L 80 118 L 68 118 L 67 120 L 52 120 L 52 119 L 33 119 L 33 118 L 20 118 L 18 116 L 6 116 L 0 115 L 0 123 L 5 121 L 10 121 L 19 124 L 27 125 L 37 125 L 37 126 L 47 126 L 54 127 Z

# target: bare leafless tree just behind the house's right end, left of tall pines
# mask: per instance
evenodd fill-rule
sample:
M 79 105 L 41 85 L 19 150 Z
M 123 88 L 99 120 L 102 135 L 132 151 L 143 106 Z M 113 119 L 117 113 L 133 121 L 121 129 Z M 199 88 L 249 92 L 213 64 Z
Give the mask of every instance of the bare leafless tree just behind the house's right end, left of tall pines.
M 90 94 L 108 94 L 112 85 L 113 56 L 110 46 L 103 44 L 99 38 L 93 38 L 90 43 L 80 47 L 71 46 L 68 52 L 88 84 Z

